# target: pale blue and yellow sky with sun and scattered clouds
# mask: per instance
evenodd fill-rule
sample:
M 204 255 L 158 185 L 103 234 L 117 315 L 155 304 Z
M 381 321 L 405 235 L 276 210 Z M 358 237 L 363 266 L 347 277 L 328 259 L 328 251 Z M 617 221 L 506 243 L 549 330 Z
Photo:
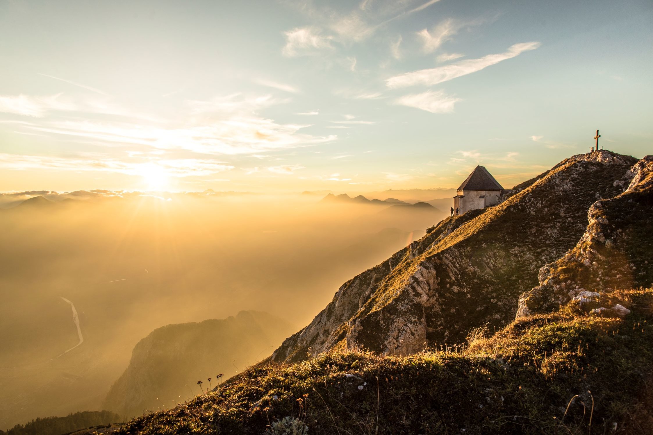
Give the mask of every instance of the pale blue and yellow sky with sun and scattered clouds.
M 0 191 L 512 187 L 653 140 L 653 3 L 0 0 Z

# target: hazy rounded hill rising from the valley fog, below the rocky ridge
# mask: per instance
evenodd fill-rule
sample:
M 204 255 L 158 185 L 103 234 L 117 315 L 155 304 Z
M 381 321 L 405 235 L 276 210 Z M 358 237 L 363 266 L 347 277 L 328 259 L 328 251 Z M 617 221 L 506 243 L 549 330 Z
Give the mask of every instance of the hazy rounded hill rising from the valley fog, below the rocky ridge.
M 291 326 L 264 312 L 241 311 L 236 317 L 180 323 L 155 329 L 136 344 L 127 370 L 111 387 L 104 408 L 120 415 L 171 408 L 272 352 Z

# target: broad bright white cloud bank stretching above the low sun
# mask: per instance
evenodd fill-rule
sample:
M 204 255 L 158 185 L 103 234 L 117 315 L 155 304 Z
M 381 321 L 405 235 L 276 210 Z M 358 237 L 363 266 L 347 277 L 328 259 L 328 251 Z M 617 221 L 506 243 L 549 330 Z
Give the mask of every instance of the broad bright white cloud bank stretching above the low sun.
M 116 121 L 76 116 L 16 123 L 16 126 L 24 132 L 67 136 L 97 145 L 140 145 L 211 155 L 260 154 L 336 140 L 335 135 L 313 136 L 300 132 L 308 125 L 277 123 L 256 113 L 282 102 L 285 100 L 270 95 L 232 94 L 208 101 L 187 101 L 187 119 L 178 123 L 144 122 L 138 117 Z M 0 112 L 38 117 L 46 108 L 71 110 L 72 106 L 57 96 L 0 98 Z

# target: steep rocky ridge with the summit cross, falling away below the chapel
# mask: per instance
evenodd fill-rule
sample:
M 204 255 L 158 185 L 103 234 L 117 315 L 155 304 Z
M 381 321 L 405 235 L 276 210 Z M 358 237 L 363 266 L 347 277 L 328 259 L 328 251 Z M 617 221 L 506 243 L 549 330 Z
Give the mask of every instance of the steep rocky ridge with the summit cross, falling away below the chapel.
M 573 248 L 588 209 L 621 194 L 637 159 L 610 151 L 577 155 L 522 183 L 494 207 L 441 221 L 436 230 L 345 282 L 313 322 L 287 338 L 273 361 L 332 348 L 407 354 L 459 343 L 471 328 L 511 321 L 537 272 Z

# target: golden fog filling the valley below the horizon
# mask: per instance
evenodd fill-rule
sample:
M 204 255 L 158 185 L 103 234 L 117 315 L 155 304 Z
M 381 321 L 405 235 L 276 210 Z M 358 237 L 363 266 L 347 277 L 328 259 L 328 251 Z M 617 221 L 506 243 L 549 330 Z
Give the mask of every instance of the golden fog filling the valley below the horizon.
M 267 357 L 343 282 L 449 215 L 451 200 L 441 199 L 453 196 L 448 190 L 395 193 L 409 203 L 308 192 L 2 195 L 0 428 L 103 409 L 136 343 L 171 323 L 242 310 L 266 313 L 257 320 L 263 326 L 276 323 L 255 337 L 259 329 L 234 327 L 247 318 L 241 314 L 229 337 L 206 342 L 227 354 L 215 357 L 214 372 L 206 361 L 202 372 L 168 370 L 184 385 L 197 378 L 206 389 L 206 378 Z M 202 331 L 214 331 L 206 325 Z M 229 340 L 253 344 L 246 352 Z M 179 400 L 199 393 L 193 383 Z

